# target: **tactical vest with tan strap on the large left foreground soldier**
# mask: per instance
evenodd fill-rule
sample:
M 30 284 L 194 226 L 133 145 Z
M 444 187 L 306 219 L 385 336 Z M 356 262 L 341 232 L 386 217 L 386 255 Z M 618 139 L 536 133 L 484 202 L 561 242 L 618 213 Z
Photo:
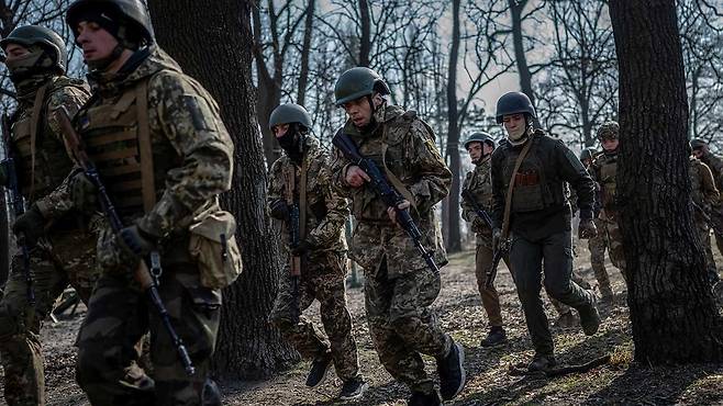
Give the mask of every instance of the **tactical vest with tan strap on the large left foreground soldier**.
M 167 171 L 181 163 L 166 138 L 151 138 L 149 80 L 140 80 L 113 100 L 90 102 L 76 116 L 88 157 L 123 217 L 149 211 L 163 194 Z

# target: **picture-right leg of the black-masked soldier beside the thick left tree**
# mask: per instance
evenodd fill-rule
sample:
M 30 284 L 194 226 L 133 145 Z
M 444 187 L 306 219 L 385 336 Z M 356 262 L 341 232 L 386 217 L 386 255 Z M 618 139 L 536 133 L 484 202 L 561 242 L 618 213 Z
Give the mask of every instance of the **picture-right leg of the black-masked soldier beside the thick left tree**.
M 347 382 L 359 375 L 359 360 L 352 334 L 352 315 L 346 307 L 346 256 L 329 252 L 324 262 L 323 274 L 314 281 L 321 322 L 331 342 L 336 374 Z

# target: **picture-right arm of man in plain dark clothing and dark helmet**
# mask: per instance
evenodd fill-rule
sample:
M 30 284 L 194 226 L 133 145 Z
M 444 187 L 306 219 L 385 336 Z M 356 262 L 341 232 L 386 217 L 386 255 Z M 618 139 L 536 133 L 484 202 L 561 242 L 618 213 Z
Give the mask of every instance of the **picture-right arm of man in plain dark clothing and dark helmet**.
M 577 194 L 580 219 L 591 219 L 594 205 L 594 181 L 580 160 L 563 143 L 557 142 L 555 155 L 559 173 Z

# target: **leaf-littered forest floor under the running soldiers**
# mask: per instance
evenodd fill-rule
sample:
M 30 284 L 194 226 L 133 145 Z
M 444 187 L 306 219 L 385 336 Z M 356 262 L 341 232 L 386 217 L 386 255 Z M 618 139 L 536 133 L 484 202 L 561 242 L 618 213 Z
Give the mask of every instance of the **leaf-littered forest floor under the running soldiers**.
M 578 247 L 577 271 L 590 283 L 589 252 Z M 723 258 L 716 252 L 716 262 Z M 433 307 L 442 326 L 465 347 L 467 386 L 449 405 L 520 405 L 520 404 L 635 404 L 635 405 L 723 405 L 723 364 L 692 364 L 686 366 L 642 365 L 633 362 L 633 342 L 625 303 L 624 283 L 620 272 L 608 263 L 608 271 L 616 293 L 616 304 L 602 312 L 603 323 L 592 337 L 586 337 L 579 326 L 553 327 L 556 357 L 561 364 L 580 364 L 604 354 L 610 363 L 586 373 L 561 377 L 515 376 L 510 366 L 527 362 L 533 356 L 509 272 L 500 269 L 497 286 L 502 302 L 502 315 L 509 343 L 485 349 L 479 341 L 487 332 L 487 316 L 477 293 L 474 274 L 474 251 L 454 255 L 442 271 L 442 292 Z M 557 314 L 545 298 L 545 308 L 554 324 Z M 264 382 L 223 385 L 227 405 L 404 405 L 409 391 L 396 383 L 379 363 L 369 338 L 364 314 L 364 292 L 348 290 L 348 305 L 354 320 L 354 334 L 359 348 L 362 372 L 369 382 L 369 391 L 357 402 L 335 402 L 341 382 L 330 371 L 330 379 L 318 388 L 303 382 L 309 362 Z M 319 320 L 318 306 L 310 315 Z M 45 375 L 48 405 L 87 405 L 75 383 L 75 348 L 73 342 L 84 313 L 47 323 L 43 330 L 43 351 L 46 357 Z M 436 379 L 434 360 L 425 358 L 426 370 Z M 3 380 L 0 380 L 0 384 Z M 0 402 L 2 404 L 2 402 Z

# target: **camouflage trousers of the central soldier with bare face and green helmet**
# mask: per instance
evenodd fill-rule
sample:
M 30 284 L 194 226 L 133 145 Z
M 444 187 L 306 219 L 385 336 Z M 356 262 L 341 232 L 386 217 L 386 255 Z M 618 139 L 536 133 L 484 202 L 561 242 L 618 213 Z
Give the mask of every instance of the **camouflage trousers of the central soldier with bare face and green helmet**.
M 440 359 L 452 348 L 452 337 L 430 309 L 440 289 L 440 275 L 427 268 L 389 279 L 386 258 L 376 275 L 365 278 L 367 323 L 379 360 L 397 381 L 415 392 L 434 391 L 421 354 Z

